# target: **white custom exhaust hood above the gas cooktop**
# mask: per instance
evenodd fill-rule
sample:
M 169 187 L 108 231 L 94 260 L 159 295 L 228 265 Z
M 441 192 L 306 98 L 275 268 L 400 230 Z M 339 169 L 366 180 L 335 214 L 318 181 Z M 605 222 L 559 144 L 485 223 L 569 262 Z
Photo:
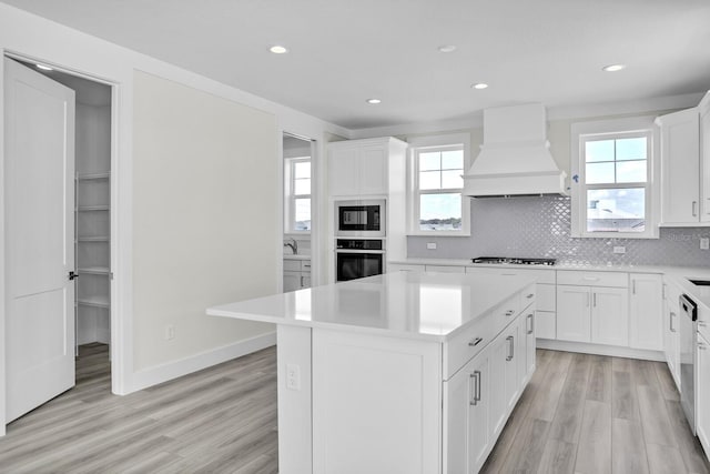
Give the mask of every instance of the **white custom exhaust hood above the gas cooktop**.
M 541 103 L 484 110 L 484 144 L 464 178 L 471 198 L 567 195 L 567 173 L 549 152 Z

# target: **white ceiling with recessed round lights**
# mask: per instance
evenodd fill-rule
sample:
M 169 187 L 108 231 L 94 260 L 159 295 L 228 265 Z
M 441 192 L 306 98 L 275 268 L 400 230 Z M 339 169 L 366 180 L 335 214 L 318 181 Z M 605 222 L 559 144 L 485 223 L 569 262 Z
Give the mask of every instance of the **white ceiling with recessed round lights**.
M 710 89 L 708 0 L 2 1 L 353 130 Z

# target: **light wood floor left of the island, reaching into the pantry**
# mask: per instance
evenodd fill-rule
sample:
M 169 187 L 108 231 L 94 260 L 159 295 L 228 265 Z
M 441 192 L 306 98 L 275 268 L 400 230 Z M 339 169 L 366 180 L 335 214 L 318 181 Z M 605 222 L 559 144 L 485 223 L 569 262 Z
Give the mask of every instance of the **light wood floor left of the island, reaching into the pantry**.
M 8 426 L 0 473 L 275 473 L 276 351 L 126 396 L 106 346 L 80 347 L 77 386 Z

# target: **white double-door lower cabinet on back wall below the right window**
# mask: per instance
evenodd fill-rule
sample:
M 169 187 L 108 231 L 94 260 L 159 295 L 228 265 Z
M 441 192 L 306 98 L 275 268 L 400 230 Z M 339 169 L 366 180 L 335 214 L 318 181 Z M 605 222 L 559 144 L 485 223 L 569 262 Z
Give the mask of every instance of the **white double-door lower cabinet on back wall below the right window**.
M 628 346 L 626 288 L 557 285 L 557 339 Z

